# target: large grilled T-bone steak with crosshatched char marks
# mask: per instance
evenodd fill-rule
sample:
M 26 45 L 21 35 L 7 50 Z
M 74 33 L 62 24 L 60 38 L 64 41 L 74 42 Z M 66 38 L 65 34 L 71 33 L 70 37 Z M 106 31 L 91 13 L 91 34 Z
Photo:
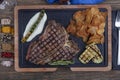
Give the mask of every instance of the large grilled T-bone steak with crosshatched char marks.
M 79 48 L 68 37 L 62 25 L 50 21 L 40 38 L 29 45 L 26 59 L 42 65 L 51 61 L 72 60 Z

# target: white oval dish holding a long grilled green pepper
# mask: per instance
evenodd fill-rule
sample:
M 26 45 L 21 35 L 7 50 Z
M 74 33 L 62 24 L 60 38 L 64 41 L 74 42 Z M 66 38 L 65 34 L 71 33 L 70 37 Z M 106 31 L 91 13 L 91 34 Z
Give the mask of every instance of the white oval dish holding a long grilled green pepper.
M 39 14 L 39 16 L 38 16 Z M 43 19 L 43 17 L 45 16 L 45 19 Z M 37 19 L 36 19 L 37 18 Z M 36 20 L 36 21 L 35 21 Z M 42 22 L 42 20 L 44 22 Z M 33 23 L 33 21 L 35 21 Z M 37 34 L 41 33 L 42 32 L 42 29 L 43 29 L 43 26 L 44 26 L 44 23 L 46 21 L 46 15 L 45 15 L 45 11 L 44 10 L 41 10 L 40 13 L 37 13 L 35 16 L 33 16 L 31 18 L 31 20 L 29 21 L 28 25 L 26 26 L 26 30 L 23 34 L 23 38 L 22 38 L 22 42 L 26 42 L 28 39 L 28 41 L 32 40 Z M 41 28 L 39 28 L 41 27 Z M 41 30 L 40 30 L 41 29 Z M 35 31 L 35 30 L 39 30 L 38 31 Z

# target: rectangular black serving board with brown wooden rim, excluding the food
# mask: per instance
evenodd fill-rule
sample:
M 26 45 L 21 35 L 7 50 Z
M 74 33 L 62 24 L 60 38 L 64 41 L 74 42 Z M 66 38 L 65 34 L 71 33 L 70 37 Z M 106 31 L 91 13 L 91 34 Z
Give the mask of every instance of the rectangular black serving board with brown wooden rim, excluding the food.
M 68 67 L 72 71 L 108 71 L 111 69 L 111 7 L 108 5 L 94 5 L 100 8 L 101 11 L 108 11 L 108 18 L 105 27 L 105 43 L 98 45 L 104 57 L 104 61 L 100 64 L 89 62 L 82 64 L 78 57 L 85 50 L 85 43 L 81 38 L 76 38 L 70 35 L 79 44 L 80 52 L 74 58 L 74 64 L 68 66 L 50 66 L 50 65 L 35 65 L 25 60 L 27 48 L 30 43 L 21 43 L 21 38 L 25 27 L 30 18 L 41 9 L 45 9 L 48 16 L 47 25 L 49 20 L 56 20 L 61 23 L 65 28 L 72 19 L 74 12 L 90 8 L 93 5 L 42 5 L 42 6 L 17 6 L 15 8 L 15 69 L 21 72 L 38 72 L 38 71 L 55 71 L 58 67 Z M 40 35 L 39 35 L 40 36 Z M 37 36 L 35 39 L 37 39 Z M 33 40 L 35 40 L 33 39 Z

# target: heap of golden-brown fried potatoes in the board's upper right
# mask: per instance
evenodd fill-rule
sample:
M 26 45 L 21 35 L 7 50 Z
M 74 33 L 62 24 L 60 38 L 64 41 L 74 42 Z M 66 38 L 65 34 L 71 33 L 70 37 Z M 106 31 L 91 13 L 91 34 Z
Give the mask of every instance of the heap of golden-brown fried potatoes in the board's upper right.
M 77 11 L 67 27 L 67 32 L 81 37 L 87 44 L 104 42 L 104 28 L 107 12 L 101 12 L 97 7 Z

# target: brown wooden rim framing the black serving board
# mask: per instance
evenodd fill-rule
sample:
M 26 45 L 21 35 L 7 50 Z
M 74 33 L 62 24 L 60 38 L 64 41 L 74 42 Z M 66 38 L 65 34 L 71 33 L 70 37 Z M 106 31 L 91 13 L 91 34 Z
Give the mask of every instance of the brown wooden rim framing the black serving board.
M 17 44 L 18 45 L 18 17 L 17 17 L 17 14 L 18 14 L 18 10 L 20 9 L 71 9 L 71 8 L 88 8 L 88 7 L 93 7 L 93 6 L 96 6 L 98 8 L 106 8 L 106 9 L 110 9 L 111 10 L 111 6 L 110 5 L 70 5 L 70 6 L 67 6 L 67 5 L 28 5 L 28 6 L 16 6 L 15 9 L 14 9 L 14 25 L 15 25 L 15 45 Z M 109 13 L 109 15 L 111 15 L 111 12 Z M 109 20 L 111 20 L 111 18 L 109 18 Z M 109 26 L 111 26 L 111 24 L 109 24 Z M 108 29 L 111 30 L 111 27 L 109 27 Z M 108 35 L 111 34 L 111 31 Z M 111 35 L 110 35 L 111 36 Z M 16 38 L 17 37 L 17 38 Z M 111 38 L 111 37 L 110 37 Z M 111 39 L 108 39 L 110 42 L 111 42 Z M 108 44 L 108 46 L 112 46 L 111 44 Z M 47 71 L 56 71 L 57 68 L 19 68 L 19 64 L 18 64 L 18 46 L 15 46 L 14 48 L 14 52 L 15 52 L 15 70 L 17 72 L 47 72 Z M 109 71 L 111 70 L 111 63 L 112 63 L 112 56 L 111 56 L 111 47 L 109 47 L 109 58 L 108 58 L 108 67 L 98 67 L 98 68 L 70 68 L 72 71 Z

